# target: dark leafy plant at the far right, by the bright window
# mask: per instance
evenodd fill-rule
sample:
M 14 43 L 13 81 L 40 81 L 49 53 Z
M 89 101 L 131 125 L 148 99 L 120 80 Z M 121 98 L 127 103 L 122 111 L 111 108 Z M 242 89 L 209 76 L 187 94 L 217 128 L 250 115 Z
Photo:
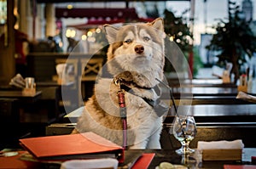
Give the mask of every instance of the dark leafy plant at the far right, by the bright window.
M 218 65 L 227 62 L 233 64 L 231 73 L 235 74 L 235 83 L 240 76 L 241 65 L 247 62 L 246 54 L 250 58 L 256 49 L 256 37 L 249 26 L 249 22 L 242 17 L 239 6 L 230 3 L 229 20 L 220 20 L 216 26 L 217 33 L 207 49 L 219 51 Z

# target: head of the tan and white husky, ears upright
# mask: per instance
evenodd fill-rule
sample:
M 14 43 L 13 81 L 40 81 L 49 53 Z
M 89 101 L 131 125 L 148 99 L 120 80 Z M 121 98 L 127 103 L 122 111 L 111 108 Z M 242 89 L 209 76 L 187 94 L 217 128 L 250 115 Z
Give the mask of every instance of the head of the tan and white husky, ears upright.
M 165 43 L 163 20 L 114 27 L 104 25 L 108 42 L 108 71 L 113 76 L 131 72 L 132 81 L 154 87 L 163 78 Z

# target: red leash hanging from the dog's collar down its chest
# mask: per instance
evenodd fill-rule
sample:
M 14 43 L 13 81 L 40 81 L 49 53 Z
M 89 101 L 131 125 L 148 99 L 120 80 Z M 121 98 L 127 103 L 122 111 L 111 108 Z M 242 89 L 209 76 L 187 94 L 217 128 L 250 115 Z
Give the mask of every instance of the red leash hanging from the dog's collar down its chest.
M 119 99 L 119 112 L 123 124 L 123 148 L 127 149 L 127 120 L 126 120 L 126 105 L 125 105 L 125 90 L 120 87 L 120 80 L 115 82 L 119 87 L 119 92 L 117 93 Z

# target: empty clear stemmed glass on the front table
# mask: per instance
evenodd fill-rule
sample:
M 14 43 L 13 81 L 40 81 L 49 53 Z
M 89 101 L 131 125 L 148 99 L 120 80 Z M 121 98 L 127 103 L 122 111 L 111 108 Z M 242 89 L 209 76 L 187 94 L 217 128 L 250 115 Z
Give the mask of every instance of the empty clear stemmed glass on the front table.
M 176 115 L 172 132 L 174 137 L 182 144 L 182 147 L 176 150 L 178 155 L 189 155 L 195 152 L 195 149 L 189 148 L 189 143 L 195 138 L 197 132 L 194 116 Z

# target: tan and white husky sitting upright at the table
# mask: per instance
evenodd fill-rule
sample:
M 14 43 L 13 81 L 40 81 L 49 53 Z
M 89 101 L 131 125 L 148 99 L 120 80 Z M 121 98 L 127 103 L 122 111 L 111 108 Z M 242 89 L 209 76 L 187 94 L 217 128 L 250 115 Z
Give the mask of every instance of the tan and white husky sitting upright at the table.
M 125 91 L 129 149 L 160 149 L 163 116 L 168 106 L 159 101 L 164 78 L 163 20 L 114 27 L 104 25 L 109 42 L 107 67 L 111 76 L 98 77 L 93 96 L 85 103 L 72 133 L 95 132 L 122 145 L 123 122 L 117 93 Z M 160 109 L 158 109 L 160 107 Z

